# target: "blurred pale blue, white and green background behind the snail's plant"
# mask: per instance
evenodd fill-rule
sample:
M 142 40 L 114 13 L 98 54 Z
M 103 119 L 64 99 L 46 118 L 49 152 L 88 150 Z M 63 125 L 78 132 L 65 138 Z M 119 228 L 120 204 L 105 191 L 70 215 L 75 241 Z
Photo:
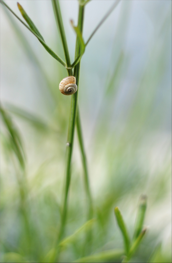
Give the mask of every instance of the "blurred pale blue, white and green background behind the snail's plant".
M 15 1 L 6 3 L 21 17 Z M 51 1 L 19 3 L 65 60 Z M 112 4 L 86 5 L 85 42 Z M 78 2 L 60 1 L 60 7 L 73 62 L 76 35 L 70 19 L 77 24 Z M 59 83 L 66 76 L 65 68 L 1 5 L 1 105 L 25 155 L 23 169 L 1 118 L 1 250 L 2 255 L 28 255 L 26 262 L 44 262 L 40 255 L 51 249 L 59 229 L 71 102 L 59 92 Z M 96 218 L 91 252 L 123 247 L 114 207 L 132 236 L 138 200 L 146 194 L 149 230 L 131 262 L 147 262 L 154 251 L 158 259 L 149 262 L 171 262 L 171 1 L 121 1 L 86 47 L 78 92 Z M 66 235 L 86 222 L 86 201 L 75 134 Z M 36 249 L 32 244 L 32 251 L 27 224 L 32 242 L 39 244 Z M 83 242 L 82 235 L 77 237 L 60 262 L 80 257 Z

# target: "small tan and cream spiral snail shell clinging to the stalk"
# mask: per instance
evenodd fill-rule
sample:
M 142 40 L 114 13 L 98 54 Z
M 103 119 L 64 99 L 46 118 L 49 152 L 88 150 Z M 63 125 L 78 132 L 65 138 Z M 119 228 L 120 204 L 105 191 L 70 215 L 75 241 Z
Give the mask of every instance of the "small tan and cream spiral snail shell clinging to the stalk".
M 71 95 L 77 91 L 76 78 L 74 76 L 68 76 L 59 84 L 60 92 L 64 95 Z

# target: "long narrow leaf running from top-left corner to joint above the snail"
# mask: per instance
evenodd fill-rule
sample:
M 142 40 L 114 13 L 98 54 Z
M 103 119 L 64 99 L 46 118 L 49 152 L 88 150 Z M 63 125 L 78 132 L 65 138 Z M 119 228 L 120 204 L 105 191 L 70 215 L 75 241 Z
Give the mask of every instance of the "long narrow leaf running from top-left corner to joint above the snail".
M 64 67 L 66 67 L 66 63 L 51 49 L 49 48 L 49 46 L 30 28 L 27 26 L 27 24 L 25 24 L 12 10 L 11 8 L 9 8 L 9 6 L 7 6 L 6 3 L 4 3 L 3 0 L 0 0 L 1 4 L 3 4 L 6 8 L 8 8 L 8 10 L 10 12 L 12 12 L 12 14 L 17 17 L 17 19 L 25 26 L 29 29 L 30 32 L 32 32 L 34 34 L 35 37 L 38 38 L 38 40 L 40 41 L 40 43 L 43 45 L 43 47 L 46 49 L 46 51 L 48 51 L 48 53 L 55 58 L 56 60 L 58 60 Z

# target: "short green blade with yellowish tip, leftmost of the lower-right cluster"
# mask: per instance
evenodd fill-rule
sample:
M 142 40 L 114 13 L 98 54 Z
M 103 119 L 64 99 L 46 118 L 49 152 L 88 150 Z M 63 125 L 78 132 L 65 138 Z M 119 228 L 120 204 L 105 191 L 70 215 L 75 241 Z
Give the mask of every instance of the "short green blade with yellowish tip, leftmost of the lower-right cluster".
M 114 209 L 114 212 L 115 212 L 118 226 L 122 232 L 126 254 L 128 255 L 129 246 L 130 246 L 130 239 L 129 239 L 128 231 L 127 231 L 126 225 L 124 223 L 124 220 L 122 218 L 121 212 L 119 211 L 118 207 Z

